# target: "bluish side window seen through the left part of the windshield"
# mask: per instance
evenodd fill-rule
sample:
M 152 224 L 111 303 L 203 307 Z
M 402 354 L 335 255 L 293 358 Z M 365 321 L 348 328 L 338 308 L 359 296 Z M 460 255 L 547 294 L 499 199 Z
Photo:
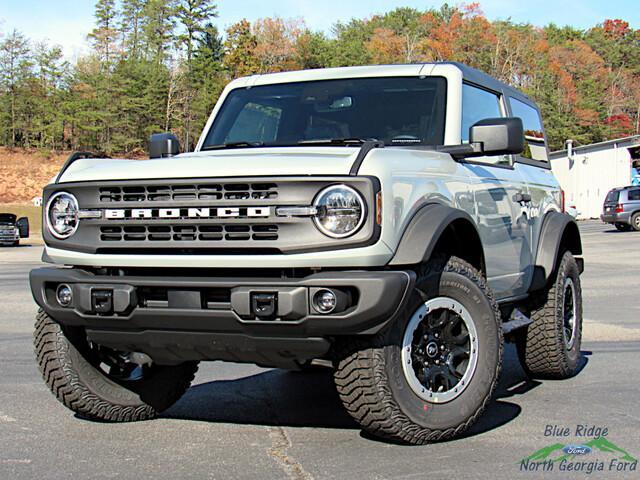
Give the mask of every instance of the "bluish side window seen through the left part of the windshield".
M 224 142 L 274 142 L 281 114 L 279 108 L 249 102 L 238 113 Z

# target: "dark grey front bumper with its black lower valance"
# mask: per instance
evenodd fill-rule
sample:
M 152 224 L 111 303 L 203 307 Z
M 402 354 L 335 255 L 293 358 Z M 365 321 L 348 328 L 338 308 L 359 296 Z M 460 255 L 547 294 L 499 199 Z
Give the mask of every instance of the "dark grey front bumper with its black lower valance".
M 229 360 L 295 366 L 325 355 L 331 339 L 372 334 L 404 304 L 415 281 L 410 271 L 320 272 L 302 278 L 107 276 L 70 268 L 30 274 L 40 307 L 63 326 L 84 327 L 90 340 L 141 351 L 161 364 Z M 67 284 L 73 304 L 62 307 L 56 289 Z M 339 313 L 314 311 L 313 293 L 333 288 L 349 295 Z M 110 292 L 111 308 L 96 311 L 96 293 Z M 269 319 L 252 313 L 252 295 L 276 294 Z

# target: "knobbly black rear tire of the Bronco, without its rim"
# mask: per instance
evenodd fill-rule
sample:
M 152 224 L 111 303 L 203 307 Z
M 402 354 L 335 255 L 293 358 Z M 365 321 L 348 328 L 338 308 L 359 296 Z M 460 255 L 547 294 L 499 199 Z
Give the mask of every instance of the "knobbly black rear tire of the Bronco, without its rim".
M 572 348 L 565 343 L 563 328 L 563 304 L 565 279 L 571 276 L 575 285 L 574 302 L 577 306 L 577 331 Z M 556 270 L 553 283 L 541 295 L 532 300 L 530 311 L 533 323 L 516 339 L 518 356 L 530 377 L 569 378 L 580 366 L 582 341 L 582 293 L 580 271 L 571 252 L 564 252 Z

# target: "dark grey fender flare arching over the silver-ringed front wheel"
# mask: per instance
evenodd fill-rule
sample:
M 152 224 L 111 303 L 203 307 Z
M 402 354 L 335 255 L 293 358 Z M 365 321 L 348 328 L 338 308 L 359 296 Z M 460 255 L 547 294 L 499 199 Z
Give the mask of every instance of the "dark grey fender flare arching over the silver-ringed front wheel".
M 473 247 L 463 249 L 469 254 L 473 253 L 465 260 L 483 270 L 484 250 L 475 222 L 464 210 L 441 203 L 428 203 L 413 215 L 389 265 L 417 265 L 429 260 L 442 235 L 450 227 L 463 230 L 460 233 L 465 237 L 464 247 Z

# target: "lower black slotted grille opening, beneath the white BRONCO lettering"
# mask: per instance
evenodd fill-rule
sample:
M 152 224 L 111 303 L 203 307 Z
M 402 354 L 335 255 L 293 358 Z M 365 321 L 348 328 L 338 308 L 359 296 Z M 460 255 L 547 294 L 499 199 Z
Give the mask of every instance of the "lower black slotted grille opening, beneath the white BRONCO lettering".
M 197 242 L 278 240 L 277 225 L 129 225 L 102 226 L 103 242 Z

